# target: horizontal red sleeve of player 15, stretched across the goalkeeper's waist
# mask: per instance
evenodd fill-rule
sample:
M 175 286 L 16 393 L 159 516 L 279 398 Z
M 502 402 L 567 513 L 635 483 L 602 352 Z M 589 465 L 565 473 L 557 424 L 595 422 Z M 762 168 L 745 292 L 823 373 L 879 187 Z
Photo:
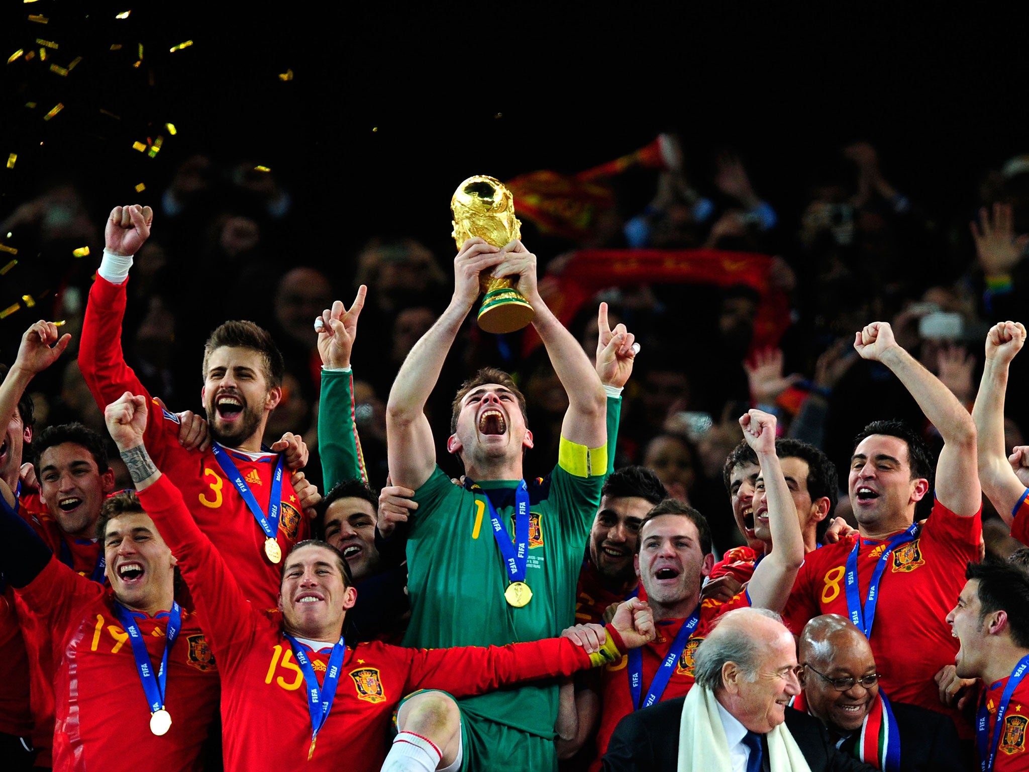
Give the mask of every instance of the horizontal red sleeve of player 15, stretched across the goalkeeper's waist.
M 614 642 L 625 651 L 620 637 L 615 637 Z M 409 652 L 411 664 L 404 694 L 416 689 L 439 689 L 455 697 L 469 697 L 523 680 L 571 675 L 592 665 L 590 655 L 569 638 Z

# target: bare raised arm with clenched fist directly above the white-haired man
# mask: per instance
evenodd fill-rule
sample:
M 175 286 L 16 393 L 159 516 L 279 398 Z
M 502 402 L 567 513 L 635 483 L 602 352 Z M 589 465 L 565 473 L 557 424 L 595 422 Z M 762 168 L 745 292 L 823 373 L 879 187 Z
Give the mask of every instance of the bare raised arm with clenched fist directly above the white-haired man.
M 804 536 L 796 505 L 786 486 L 786 478 L 775 452 L 775 416 L 759 410 L 740 416 L 743 436 L 761 467 L 761 483 L 768 504 L 772 552 L 757 564 L 747 585 L 751 605 L 781 611 L 786 607 L 796 573 L 804 565 Z M 755 513 L 756 515 L 756 513 Z

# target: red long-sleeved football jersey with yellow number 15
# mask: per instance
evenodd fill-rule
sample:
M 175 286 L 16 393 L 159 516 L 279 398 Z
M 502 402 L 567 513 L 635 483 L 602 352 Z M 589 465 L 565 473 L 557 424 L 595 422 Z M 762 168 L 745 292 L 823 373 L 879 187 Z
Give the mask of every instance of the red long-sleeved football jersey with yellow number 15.
M 189 519 L 167 477 L 139 494 L 178 558 L 221 673 L 226 770 L 378 770 L 400 699 L 419 689 L 467 697 L 529 678 L 571 675 L 590 658 L 567 638 L 506 646 L 401 648 L 380 641 L 348 647 L 331 711 L 311 761 L 304 674 L 282 617 L 247 602 L 235 567 Z M 330 650 L 329 650 L 330 651 Z M 311 655 L 322 681 L 329 651 Z

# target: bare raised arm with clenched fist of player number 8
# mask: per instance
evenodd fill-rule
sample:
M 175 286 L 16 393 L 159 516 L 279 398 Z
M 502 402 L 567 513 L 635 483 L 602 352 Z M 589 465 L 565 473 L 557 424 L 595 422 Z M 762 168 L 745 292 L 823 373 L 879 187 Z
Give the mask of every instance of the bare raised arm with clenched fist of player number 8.
M 944 437 L 936 464 L 935 494 L 939 503 L 961 517 L 978 513 L 982 490 L 975 461 L 975 424 L 968 411 L 938 378 L 897 344 L 888 323 L 873 322 L 857 332 L 854 349 L 862 358 L 889 367 Z

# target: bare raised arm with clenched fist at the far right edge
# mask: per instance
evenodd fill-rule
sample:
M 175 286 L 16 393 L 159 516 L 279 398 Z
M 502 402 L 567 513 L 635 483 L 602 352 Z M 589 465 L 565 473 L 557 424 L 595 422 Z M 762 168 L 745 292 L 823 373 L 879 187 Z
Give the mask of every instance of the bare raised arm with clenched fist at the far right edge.
M 979 432 L 979 481 L 983 491 L 1007 525 L 1026 492 L 1004 453 L 1004 394 L 1012 359 L 1026 341 L 1018 322 L 994 324 L 986 337 L 986 363 L 971 417 Z

